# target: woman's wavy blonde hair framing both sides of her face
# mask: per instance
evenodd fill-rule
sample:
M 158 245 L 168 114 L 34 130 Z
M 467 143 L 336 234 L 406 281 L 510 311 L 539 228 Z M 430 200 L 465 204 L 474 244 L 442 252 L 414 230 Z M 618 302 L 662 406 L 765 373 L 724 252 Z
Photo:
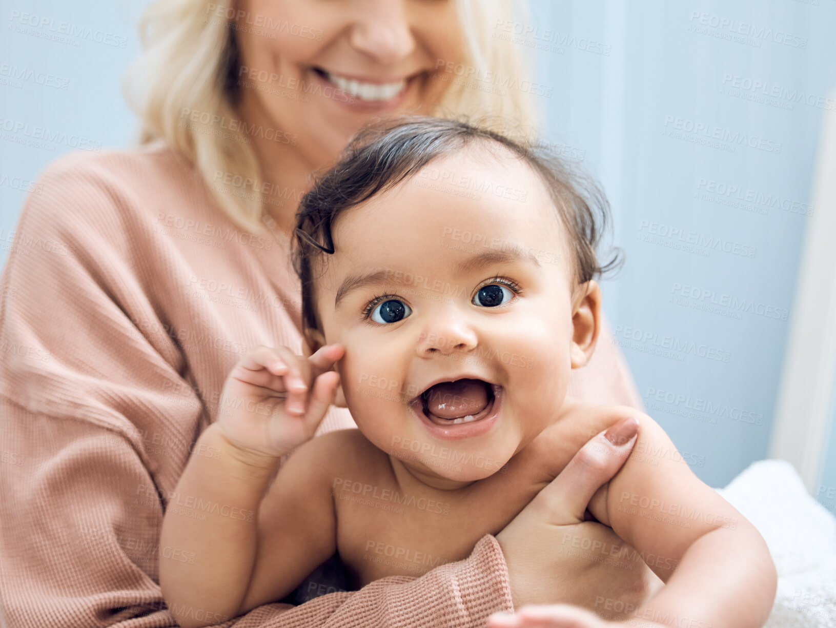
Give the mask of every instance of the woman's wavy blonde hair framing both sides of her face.
M 463 58 L 439 70 L 450 84 L 431 115 L 478 118 L 487 128 L 531 139 L 533 98 L 523 0 L 454 0 Z M 264 229 L 263 171 L 235 100 L 238 56 L 234 0 L 155 0 L 140 18 L 142 54 L 125 74 L 125 100 L 140 120 L 137 143 L 165 140 L 195 164 L 218 205 L 248 232 Z M 476 81 L 474 83 L 474 81 Z M 219 176 L 220 173 L 220 176 Z M 237 183 L 217 185 L 218 178 Z

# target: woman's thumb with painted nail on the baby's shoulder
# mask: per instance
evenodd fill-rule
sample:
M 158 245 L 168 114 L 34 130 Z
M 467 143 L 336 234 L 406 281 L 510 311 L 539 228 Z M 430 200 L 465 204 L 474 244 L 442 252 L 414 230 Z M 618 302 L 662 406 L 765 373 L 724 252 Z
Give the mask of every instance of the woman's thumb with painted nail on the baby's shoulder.
M 581 447 L 558 477 L 533 500 L 542 500 L 539 506 L 548 508 L 548 522 L 554 525 L 582 522 L 589 500 L 624 465 L 638 433 L 639 421 L 630 416 Z

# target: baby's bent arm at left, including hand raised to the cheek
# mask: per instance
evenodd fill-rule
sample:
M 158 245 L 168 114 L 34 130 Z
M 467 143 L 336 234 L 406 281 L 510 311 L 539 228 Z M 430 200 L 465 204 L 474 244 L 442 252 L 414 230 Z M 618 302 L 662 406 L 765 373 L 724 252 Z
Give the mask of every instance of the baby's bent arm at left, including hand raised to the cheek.
M 186 628 L 278 601 L 334 554 L 322 445 L 308 441 L 334 401 L 339 375 L 328 368 L 343 351 L 329 345 L 305 359 L 258 347 L 227 377 L 217 422 L 198 438 L 161 530 L 161 590 Z

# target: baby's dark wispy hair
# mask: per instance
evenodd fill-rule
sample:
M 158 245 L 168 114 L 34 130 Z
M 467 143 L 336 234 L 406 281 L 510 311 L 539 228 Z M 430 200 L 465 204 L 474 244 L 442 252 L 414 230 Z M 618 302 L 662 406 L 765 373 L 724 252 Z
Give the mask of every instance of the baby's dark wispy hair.
M 490 149 L 505 146 L 540 176 L 558 211 L 568 242 L 573 245 L 573 273 L 586 283 L 618 267 L 621 252 L 613 249 L 600 265 L 596 248 L 609 227 L 609 203 L 589 176 L 573 171 L 548 146 L 528 145 L 493 130 L 462 120 L 426 116 L 398 116 L 367 125 L 345 147 L 339 161 L 314 177 L 296 214 L 293 268 L 302 282 L 302 324 L 319 329 L 314 308 L 314 261 L 334 253 L 331 227 L 351 207 L 404 181 L 441 156 L 478 144 Z

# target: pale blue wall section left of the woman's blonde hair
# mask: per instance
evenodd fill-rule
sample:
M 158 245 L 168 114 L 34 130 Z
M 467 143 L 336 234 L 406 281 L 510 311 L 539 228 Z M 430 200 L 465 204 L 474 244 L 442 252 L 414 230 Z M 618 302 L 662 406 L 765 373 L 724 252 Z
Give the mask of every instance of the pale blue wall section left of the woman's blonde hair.
M 0 0 L 0 263 L 25 187 L 44 166 L 74 146 L 129 146 L 135 121 L 120 76 L 139 51 L 136 20 L 144 5 Z M 55 140 L 25 144 L 45 133 Z

